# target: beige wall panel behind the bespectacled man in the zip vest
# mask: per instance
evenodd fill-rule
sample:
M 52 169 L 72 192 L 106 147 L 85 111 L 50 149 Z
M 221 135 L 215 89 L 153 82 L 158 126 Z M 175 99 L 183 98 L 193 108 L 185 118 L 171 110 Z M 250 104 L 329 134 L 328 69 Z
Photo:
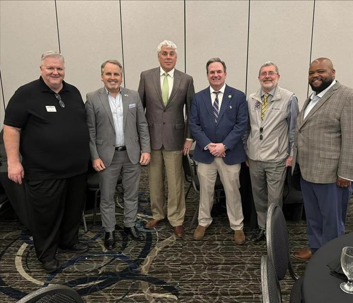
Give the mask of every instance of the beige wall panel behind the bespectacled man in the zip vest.
M 259 68 L 278 65 L 279 85 L 307 97 L 313 1 L 251 1 L 247 95 L 259 88 Z

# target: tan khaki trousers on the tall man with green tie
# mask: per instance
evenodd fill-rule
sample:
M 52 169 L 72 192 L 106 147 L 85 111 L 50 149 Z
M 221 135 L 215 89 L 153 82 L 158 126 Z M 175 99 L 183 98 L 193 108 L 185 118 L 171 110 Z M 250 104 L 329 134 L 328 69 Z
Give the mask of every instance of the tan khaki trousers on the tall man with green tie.
M 185 194 L 183 179 L 183 150 L 151 150 L 148 165 L 151 210 L 153 219 L 165 218 L 164 167 L 167 176 L 167 218 L 171 226 L 183 225 L 185 216 Z

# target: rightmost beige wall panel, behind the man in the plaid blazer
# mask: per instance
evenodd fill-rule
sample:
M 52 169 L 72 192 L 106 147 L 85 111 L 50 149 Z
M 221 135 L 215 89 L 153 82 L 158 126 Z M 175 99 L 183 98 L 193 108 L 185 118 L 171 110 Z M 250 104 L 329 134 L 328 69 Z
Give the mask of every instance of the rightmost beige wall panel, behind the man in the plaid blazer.
M 336 79 L 353 87 L 352 52 L 353 1 L 316 1 L 312 60 L 330 58 Z

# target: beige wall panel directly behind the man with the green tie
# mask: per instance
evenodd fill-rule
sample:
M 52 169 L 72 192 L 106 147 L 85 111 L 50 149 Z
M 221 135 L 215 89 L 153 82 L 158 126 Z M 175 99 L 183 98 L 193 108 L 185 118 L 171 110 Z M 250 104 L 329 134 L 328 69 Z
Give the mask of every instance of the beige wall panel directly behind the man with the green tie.
M 164 39 L 178 46 L 175 68 L 184 71 L 184 2 L 122 1 L 126 87 L 137 89 L 140 73 L 158 67 L 157 45 Z

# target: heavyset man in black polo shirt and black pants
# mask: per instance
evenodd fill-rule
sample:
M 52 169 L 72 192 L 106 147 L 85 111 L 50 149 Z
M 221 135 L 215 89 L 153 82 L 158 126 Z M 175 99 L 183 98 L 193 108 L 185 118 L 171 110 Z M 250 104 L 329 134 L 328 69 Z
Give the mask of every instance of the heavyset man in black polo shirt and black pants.
M 40 78 L 16 90 L 4 121 L 9 179 L 24 181 L 34 247 L 48 273 L 59 266 L 57 246 L 81 253 L 88 249 L 79 242 L 78 229 L 89 134 L 81 94 L 63 81 L 64 64 L 61 54 L 44 53 Z

